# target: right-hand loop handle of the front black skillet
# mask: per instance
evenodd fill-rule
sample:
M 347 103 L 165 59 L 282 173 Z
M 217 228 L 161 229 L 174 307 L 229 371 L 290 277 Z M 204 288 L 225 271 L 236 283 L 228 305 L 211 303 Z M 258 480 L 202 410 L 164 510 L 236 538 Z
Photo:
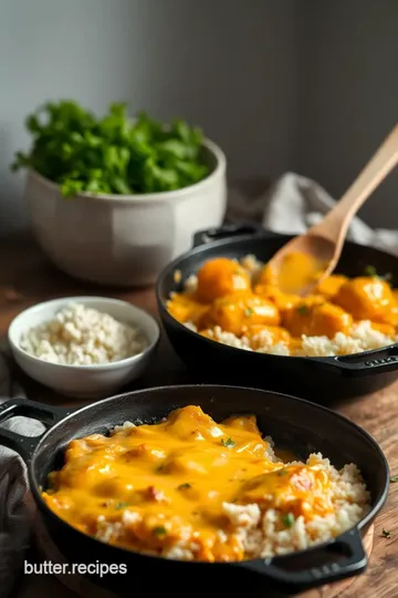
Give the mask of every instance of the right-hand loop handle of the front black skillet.
M 268 577 L 283 594 L 301 594 L 366 570 L 367 556 L 357 528 L 324 544 L 271 559 L 243 561 L 241 567 Z

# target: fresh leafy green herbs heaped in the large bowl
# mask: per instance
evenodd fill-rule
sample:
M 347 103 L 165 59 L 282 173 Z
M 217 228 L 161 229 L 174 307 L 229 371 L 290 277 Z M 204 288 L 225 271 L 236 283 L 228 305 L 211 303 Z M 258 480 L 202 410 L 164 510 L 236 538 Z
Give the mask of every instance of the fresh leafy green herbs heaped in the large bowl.
M 15 154 L 12 169 L 38 172 L 64 196 L 171 192 L 210 174 L 199 128 L 144 112 L 130 118 L 125 104 L 112 104 L 96 117 L 73 101 L 49 102 L 28 116 L 25 126 L 32 148 Z

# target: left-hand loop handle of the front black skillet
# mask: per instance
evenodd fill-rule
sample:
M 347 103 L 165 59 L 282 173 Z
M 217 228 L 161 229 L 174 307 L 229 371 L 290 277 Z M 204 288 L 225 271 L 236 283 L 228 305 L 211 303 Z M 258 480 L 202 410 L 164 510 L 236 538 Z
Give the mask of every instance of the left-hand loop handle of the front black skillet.
M 17 451 L 23 461 L 28 463 L 44 432 L 63 420 L 71 412 L 72 410 L 67 408 L 53 408 L 44 403 L 30 401 L 29 399 L 12 399 L 11 401 L 6 401 L 0 405 L 0 445 Z M 39 420 L 42 423 L 48 424 L 49 427 L 43 434 L 39 434 L 39 436 L 24 436 L 23 434 L 6 430 L 1 426 L 1 423 L 19 415 Z

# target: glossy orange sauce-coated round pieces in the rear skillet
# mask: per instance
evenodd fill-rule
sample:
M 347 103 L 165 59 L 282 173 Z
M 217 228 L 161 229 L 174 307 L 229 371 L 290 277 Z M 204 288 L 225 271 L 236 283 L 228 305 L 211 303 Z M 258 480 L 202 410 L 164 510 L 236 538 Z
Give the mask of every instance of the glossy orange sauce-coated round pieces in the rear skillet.
M 300 348 L 302 336 L 334 339 L 342 332 L 349 337 L 353 327 L 364 320 L 388 337 L 397 334 L 398 290 L 384 277 L 332 275 L 302 298 L 294 288 L 304 279 L 316 279 L 321 265 L 314 265 L 308 256 L 292 254 L 282 266 L 276 279 L 266 264 L 253 275 L 237 260 L 211 259 L 197 272 L 197 289 L 174 293 L 167 309 L 205 337 L 217 339 L 212 331 L 219 327 L 222 332 L 249 339 L 250 348 L 258 350 L 259 338 L 265 334 L 272 346 L 282 342 L 291 354 Z

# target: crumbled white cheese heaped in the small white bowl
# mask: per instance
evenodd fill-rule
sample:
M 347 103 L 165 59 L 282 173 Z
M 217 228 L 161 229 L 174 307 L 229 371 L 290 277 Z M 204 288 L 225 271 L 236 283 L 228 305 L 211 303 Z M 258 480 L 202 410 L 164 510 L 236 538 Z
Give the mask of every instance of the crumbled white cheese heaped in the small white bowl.
M 111 363 L 142 353 L 146 347 L 137 328 L 81 303 L 70 303 L 20 340 L 27 353 L 66 365 Z

